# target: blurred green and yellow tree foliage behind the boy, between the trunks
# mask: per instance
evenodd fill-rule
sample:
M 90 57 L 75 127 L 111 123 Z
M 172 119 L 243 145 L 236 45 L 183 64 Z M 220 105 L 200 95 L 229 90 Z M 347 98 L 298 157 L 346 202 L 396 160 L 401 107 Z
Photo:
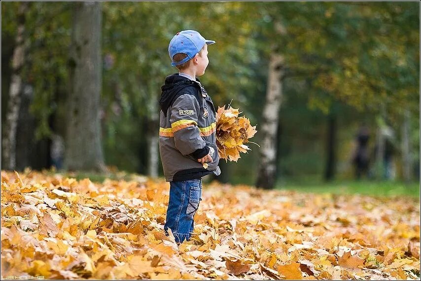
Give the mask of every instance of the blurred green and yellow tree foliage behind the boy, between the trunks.
M 5 50 L 13 48 L 17 5 L 1 3 Z M 261 121 L 269 56 L 284 56 L 281 175 L 322 173 L 326 114 L 332 111 L 338 119 L 340 161 L 349 162 L 362 122 L 373 129 L 374 145 L 381 105 L 385 122 L 396 130 L 403 111 L 411 111 L 411 145 L 419 157 L 419 8 L 419 2 L 404 1 L 172 2 L 171 8 L 159 1 L 104 2 L 101 116 L 106 163 L 146 172 L 146 131 L 156 124 L 164 78 L 177 72 L 170 65 L 168 43 L 185 29 L 216 41 L 200 78 L 215 105 L 233 100 L 232 106 L 252 125 Z M 71 2 L 39 1 L 32 2 L 27 15 L 23 74 L 34 85 L 31 112 L 38 120 L 37 139 L 51 134 L 52 114 L 57 128 L 65 126 L 71 11 Z M 5 71 L 2 78 L 8 84 Z M 7 93 L 6 86 L 2 91 Z M 6 98 L 2 95 L 3 104 Z M 225 165 L 232 182 L 254 181 L 248 171 L 257 165 L 258 148 L 251 148 L 238 164 Z

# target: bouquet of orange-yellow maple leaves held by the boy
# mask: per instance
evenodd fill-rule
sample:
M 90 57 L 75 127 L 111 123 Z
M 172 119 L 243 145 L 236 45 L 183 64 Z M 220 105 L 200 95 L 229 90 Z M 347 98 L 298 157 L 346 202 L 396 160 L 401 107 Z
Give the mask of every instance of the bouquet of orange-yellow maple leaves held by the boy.
M 257 132 L 256 126 L 250 125 L 246 117 L 238 116 L 241 113 L 238 110 L 230 105 L 225 109 L 224 105 L 216 112 L 216 145 L 219 157 L 225 161 L 237 162 L 241 158 L 240 152 L 247 153 L 250 149 L 245 143 Z

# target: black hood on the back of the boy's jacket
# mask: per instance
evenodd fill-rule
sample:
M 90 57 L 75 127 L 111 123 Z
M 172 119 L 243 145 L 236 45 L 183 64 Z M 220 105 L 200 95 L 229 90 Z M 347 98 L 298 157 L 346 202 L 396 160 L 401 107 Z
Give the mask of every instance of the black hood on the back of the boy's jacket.
M 197 78 L 196 80 L 199 81 Z M 159 105 L 165 116 L 167 116 L 167 110 L 171 104 L 173 104 L 177 94 L 189 86 L 199 87 L 197 83 L 178 75 L 178 73 L 174 73 L 165 78 L 165 84 L 161 87 L 162 93 L 161 98 L 159 99 Z

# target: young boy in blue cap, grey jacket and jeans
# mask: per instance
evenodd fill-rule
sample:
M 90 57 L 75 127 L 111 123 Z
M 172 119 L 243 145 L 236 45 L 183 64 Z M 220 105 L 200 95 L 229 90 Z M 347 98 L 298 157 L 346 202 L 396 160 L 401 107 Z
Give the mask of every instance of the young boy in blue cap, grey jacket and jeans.
M 208 45 L 197 31 L 180 31 L 170 41 L 168 51 L 179 73 L 165 78 L 162 86 L 159 128 L 159 152 L 170 201 L 165 233 L 168 228 L 175 241 L 189 241 L 194 214 L 202 200 L 202 177 L 218 176 L 216 147 L 216 111 L 210 96 L 197 76 L 208 66 Z

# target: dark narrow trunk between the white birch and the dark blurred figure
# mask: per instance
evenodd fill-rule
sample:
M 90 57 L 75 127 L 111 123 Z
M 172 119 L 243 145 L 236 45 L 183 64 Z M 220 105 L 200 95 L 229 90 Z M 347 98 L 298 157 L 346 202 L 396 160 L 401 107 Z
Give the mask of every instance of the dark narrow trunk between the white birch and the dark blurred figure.
M 327 139 L 326 139 L 326 169 L 324 179 L 333 180 L 335 176 L 335 148 L 336 148 L 336 116 L 332 112 L 327 117 Z

